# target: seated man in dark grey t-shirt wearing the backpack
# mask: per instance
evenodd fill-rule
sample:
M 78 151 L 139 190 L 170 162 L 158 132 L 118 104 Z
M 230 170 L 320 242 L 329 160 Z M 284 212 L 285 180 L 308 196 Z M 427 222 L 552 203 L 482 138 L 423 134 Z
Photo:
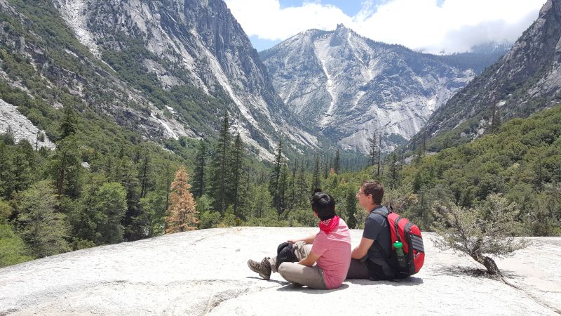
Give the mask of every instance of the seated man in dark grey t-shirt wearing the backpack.
M 384 186 L 376 180 L 365 180 L 356 194 L 358 204 L 365 209 L 368 217 L 365 220 L 363 238 L 351 252 L 351 265 L 347 279 L 392 279 L 393 269 L 386 258 L 391 255 L 391 235 L 388 220 L 376 213 L 389 213 L 381 205 L 384 197 Z

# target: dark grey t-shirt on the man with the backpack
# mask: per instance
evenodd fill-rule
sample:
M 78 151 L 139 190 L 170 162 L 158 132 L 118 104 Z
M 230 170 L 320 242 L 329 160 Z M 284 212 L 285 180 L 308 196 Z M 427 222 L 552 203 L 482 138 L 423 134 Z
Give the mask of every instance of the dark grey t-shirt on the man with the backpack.
M 374 211 L 389 213 L 386 206 L 378 206 L 376 209 L 373 209 L 365 220 L 363 237 L 374 239 L 375 241 L 368 249 L 368 258 L 372 261 L 385 262 L 384 256 L 388 258 L 391 254 L 391 235 L 388 229 L 388 220 L 384 216 L 374 213 Z M 384 254 L 380 253 L 376 243 L 379 244 Z

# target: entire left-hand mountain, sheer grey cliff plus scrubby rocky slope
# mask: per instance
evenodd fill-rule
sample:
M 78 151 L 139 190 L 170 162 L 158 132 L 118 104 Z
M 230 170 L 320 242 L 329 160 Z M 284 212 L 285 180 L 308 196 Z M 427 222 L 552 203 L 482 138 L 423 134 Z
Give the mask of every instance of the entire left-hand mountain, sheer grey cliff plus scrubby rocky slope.
M 4 69 L 12 88 L 65 90 L 156 140 L 215 136 L 229 110 L 232 129 L 262 158 L 272 159 L 278 136 L 291 147 L 318 145 L 276 96 L 223 1 L 34 2 L 0 0 L 0 48 L 41 77 L 32 86 Z M 62 93 L 43 94 L 65 106 Z

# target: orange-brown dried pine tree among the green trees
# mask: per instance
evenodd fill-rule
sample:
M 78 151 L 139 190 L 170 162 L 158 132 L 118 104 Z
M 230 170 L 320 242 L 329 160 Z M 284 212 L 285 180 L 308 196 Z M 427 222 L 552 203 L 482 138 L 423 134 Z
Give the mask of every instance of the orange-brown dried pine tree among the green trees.
M 184 166 L 181 166 L 175 173 L 175 179 L 170 187 L 170 207 L 165 218 L 166 234 L 196 230 L 195 224 L 198 223 L 198 219 L 195 214 L 198 211 L 190 189 L 189 175 Z

